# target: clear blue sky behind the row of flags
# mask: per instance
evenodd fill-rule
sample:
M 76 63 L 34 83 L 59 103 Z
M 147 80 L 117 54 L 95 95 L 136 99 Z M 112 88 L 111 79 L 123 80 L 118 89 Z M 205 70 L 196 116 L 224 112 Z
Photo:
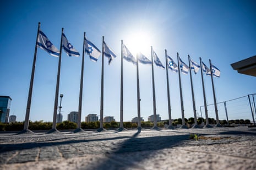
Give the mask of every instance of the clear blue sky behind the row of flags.
M 37 24 L 59 48 L 61 28 L 80 54 L 83 32 L 102 48 L 105 42 L 117 54 L 110 64 L 105 59 L 104 117 L 119 121 L 121 40 L 134 54 L 135 48 L 148 58 L 150 46 L 162 63 L 165 49 L 177 62 L 177 52 L 188 64 L 188 54 L 209 66 L 209 59 L 221 70 L 214 78 L 217 101 L 255 93 L 256 79 L 238 74 L 231 63 L 255 55 L 255 1 L 1 1 L 0 2 L 0 95 L 12 97 L 10 114 L 25 119 Z M 141 33 L 142 32 L 142 33 Z M 139 40 L 138 35 L 144 37 Z M 141 44 L 137 42 L 141 41 Z M 144 42 L 144 43 L 143 43 Z M 143 43 L 143 44 L 142 44 Z M 52 121 L 58 58 L 37 51 L 30 119 Z M 61 84 L 63 119 L 78 111 L 81 57 L 67 57 L 62 52 Z M 137 116 L 136 67 L 123 62 L 124 121 Z M 154 66 L 156 111 L 168 119 L 166 72 Z M 141 117 L 153 113 L 151 67 L 139 65 Z M 181 117 L 178 74 L 169 70 L 172 118 Z M 213 103 L 210 76 L 204 76 L 207 103 Z M 85 56 L 82 121 L 89 113 L 100 114 L 101 57 L 91 62 Z M 203 105 L 200 74 L 193 75 L 197 110 Z M 189 75 L 182 74 L 185 117 L 193 117 Z

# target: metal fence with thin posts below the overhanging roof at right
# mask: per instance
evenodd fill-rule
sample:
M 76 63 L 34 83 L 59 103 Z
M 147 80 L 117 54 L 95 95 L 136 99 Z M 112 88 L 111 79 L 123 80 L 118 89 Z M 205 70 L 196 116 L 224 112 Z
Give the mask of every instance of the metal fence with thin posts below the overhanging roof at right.
M 249 119 L 251 123 L 255 124 L 255 96 L 256 94 L 250 94 L 217 103 L 219 120 L 228 122 L 228 120 Z M 207 105 L 207 109 L 208 117 L 216 119 L 214 103 Z M 204 106 L 200 106 L 200 114 L 200 117 L 205 117 Z

